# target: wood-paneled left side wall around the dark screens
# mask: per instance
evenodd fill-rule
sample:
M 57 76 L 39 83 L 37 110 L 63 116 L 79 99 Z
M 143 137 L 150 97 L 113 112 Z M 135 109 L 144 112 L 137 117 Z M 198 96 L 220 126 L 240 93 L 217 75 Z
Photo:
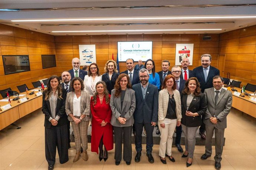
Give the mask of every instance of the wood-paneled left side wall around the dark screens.
M 32 88 L 31 82 L 57 74 L 57 67 L 42 69 L 41 54 L 55 54 L 53 35 L 0 24 L 0 89 Z M 29 55 L 30 71 L 4 75 L 2 55 Z

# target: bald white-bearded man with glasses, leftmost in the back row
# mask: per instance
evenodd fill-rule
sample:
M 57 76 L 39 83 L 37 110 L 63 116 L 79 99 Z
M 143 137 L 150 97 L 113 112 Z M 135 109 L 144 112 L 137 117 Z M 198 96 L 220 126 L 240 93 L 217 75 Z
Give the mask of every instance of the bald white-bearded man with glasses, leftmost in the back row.
M 87 72 L 80 69 L 80 64 L 81 63 L 79 58 L 72 59 L 73 69 L 70 69 L 68 71 L 71 75 L 71 79 L 73 79 L 74 77 L 80 77 L 82 80 L 85 79 L 85 75 L 87 75 Z

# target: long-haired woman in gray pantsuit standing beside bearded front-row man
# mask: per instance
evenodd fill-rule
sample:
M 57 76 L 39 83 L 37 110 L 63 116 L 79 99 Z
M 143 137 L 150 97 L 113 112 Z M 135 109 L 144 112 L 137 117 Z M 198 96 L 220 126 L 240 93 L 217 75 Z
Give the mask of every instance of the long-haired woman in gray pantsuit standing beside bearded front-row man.
M 111 91 L 110 106 L 112 110 L 111 125 L 115 133 L 115 164 L 122 160 L 122 140 L 124 139 L 124 160 L 127 165 L 132 159 L 132 125 L 134 123 L 133 112 L 135 110 L 135 92 L 131 89 L 129 76 L 120 74 L 115 87 Z

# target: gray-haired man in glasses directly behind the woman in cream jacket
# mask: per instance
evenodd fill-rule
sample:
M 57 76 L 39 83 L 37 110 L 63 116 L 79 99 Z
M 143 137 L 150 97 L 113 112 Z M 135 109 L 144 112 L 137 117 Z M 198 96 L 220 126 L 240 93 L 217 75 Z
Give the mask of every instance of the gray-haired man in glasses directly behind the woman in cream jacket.
M 178 65 L 174 65 L 173 68 L 171 68 L 171 74 L 174 76 L 174 79 L 176 81 L 176 89 L 181 93 L 185 88 L 185 83 L 186 83 L 184 79 L 180 78 L 181 68 Z M 183 153 L 183 149 L 180 146 L 181 133 L 182 133 L 181 126 L 176 126 L 175 146 L 177 147 L 180 153 Z

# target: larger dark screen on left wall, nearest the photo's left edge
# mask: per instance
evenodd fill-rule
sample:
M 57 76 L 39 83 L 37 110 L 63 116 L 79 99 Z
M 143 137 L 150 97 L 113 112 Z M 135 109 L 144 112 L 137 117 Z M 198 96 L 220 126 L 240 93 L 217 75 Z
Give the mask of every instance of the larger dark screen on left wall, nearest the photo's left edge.
M 3 55 L 4 74 L 30 71 L 28 55 Z

